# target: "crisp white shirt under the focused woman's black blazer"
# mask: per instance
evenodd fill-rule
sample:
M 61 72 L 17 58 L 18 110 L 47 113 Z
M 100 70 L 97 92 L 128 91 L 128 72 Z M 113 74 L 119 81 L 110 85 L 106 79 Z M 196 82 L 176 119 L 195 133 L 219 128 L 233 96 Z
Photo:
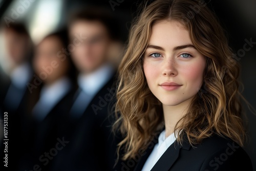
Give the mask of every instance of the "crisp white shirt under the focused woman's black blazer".
M 167 150 L 167 148 L 172 145 L 175 140 L 176 137 L 174 133 L 165 138 L 165 130 L 161 132 L 158 137 L 158 143 L 154 146 L 154 149 L 151 152 L 150 156 L 148 156 L 142 168 L 142 171 L 150 171 L 160 159 L 160 157 L 164 154 L 164 152 Z

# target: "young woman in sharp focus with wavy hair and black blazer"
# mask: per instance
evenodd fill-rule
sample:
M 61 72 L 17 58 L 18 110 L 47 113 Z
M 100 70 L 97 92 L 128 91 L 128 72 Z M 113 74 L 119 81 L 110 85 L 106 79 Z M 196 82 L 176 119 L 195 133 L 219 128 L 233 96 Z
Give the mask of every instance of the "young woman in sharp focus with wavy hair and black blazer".
M 124 161 L 116 170 L 252 170 L 241 147 L 239 71 L 202 1 L 147 6 L 119 68 L 115 126 Z

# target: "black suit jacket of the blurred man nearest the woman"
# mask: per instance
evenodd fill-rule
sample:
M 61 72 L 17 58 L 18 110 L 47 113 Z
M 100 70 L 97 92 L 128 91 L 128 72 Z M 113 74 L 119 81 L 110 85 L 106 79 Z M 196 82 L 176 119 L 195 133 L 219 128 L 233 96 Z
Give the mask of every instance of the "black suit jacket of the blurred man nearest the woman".
M 59 137 L 69 141 L 53 159 L 52 170 L 112 170 L 116 141 L 111 132 L 114 118 L 114 77 L 99 90 L 78 120 L 69 119 L 66 131 Z M 65 128 L 63 128 L 65 129 Z

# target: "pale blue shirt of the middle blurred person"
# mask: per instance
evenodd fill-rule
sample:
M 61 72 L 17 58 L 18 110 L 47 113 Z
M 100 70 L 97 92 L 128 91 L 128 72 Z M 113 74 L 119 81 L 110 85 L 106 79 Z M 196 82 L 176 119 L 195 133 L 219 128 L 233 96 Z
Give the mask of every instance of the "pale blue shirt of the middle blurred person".
M 62 77 L 50 86 L 41 89 L 40 98 L 35 104 L 32 113 L 37 121 L 42 121 L 54 106 L 69 92 L 71 81 L 67 77 Z

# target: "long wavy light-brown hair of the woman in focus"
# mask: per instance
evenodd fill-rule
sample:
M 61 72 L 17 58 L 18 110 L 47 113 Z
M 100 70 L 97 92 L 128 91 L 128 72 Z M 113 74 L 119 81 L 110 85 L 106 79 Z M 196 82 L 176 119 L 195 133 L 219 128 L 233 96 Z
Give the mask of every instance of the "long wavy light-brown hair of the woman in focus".
M 186 135 L 189 143 L 195 145 L 218 134 L 243 145 L 246 136 L 239 101 L 240 66 L 216 16 L 201 2 L 156 0 L 142 10 L 131 27 L 119 67 L 114 124 L 124 136 L 118 145 L 118 150 L 124 147 L 124 160 L 146 149 L 151 137 L 164 127 L 162 104 L 148 88 L 143 71 L 143 54 L 152 26 L 160 20 L 179 22 L 188 30 L 196 49 L 206 57 L 202 87 L 187 114 L 175 126 L 177 141 L 182 143 Z

